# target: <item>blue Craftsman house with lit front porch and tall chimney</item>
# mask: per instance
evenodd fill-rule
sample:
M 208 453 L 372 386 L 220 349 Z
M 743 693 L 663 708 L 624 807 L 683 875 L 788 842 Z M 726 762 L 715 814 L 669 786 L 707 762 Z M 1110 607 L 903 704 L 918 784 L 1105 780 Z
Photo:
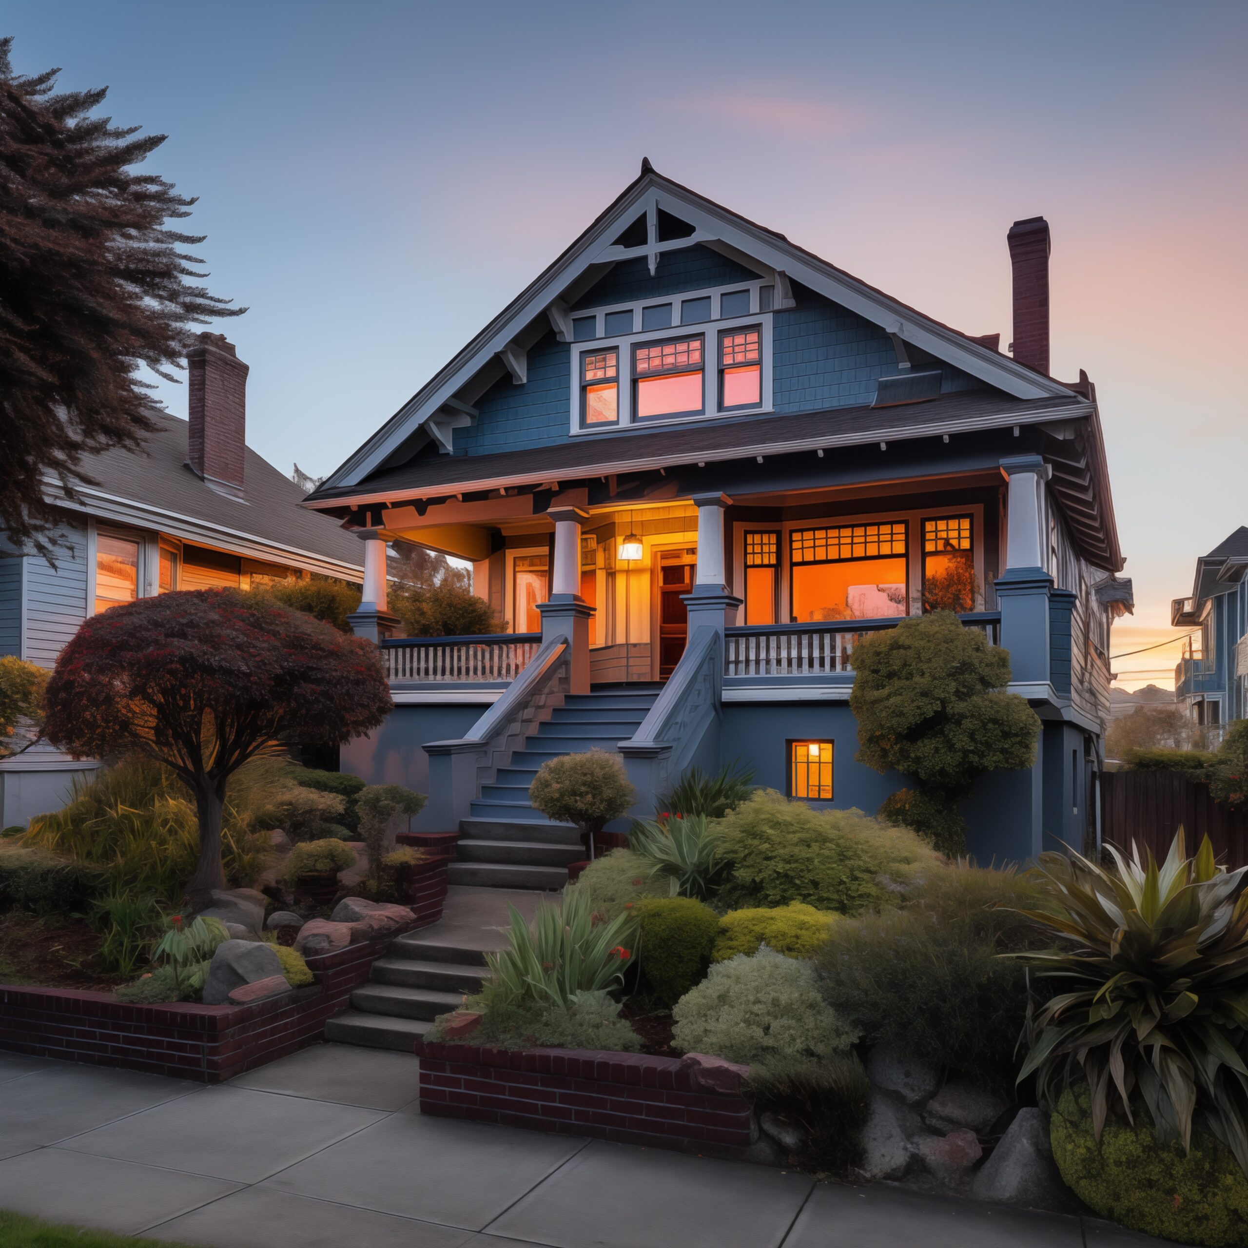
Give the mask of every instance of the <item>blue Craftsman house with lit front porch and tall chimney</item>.
M 856 761 L 855 641 L 953 593 L 1045 724 L 1035 768 L 968 801 L 972 850 L 1094 836 L 1131 584 L 1096 392 L 1048 376 L 1048 226 L 1008 243 L 1013 358 L 643 163 L 306 500 L 366 535 L 397 704 L 343 766 L 429 792 L 466 882 L 557 882 L 528 782 L 590 745 L 638 812 L 731 759 L 874 811 L 904 780 Z M 398 539 L 470 560 L 505 634 L 396 638 Z

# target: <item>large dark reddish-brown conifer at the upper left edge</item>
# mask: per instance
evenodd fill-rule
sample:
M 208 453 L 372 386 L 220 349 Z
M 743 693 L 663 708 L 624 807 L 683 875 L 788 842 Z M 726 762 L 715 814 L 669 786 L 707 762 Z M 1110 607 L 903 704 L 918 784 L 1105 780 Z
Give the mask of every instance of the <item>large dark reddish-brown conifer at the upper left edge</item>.
M 49 550 L 47 478 L 72 494 L 84 457 L 137 448 L 150 386 L 193 326 L 237 316 L 196 285 L 203 241 L 167 227 L 193 198 L 140 165 L 165 135 L 92 116 L 107 91 L 56 92 L 59 70 L 16 75 L 0 39 L 0 529 Z

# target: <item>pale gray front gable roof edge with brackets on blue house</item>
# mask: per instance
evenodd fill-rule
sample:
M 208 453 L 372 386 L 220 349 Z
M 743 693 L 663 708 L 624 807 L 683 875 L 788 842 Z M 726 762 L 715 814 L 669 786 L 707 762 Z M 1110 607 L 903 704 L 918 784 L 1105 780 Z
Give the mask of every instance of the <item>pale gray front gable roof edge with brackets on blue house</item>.
M 693 235 L 659 241 L 660 213 L 693 226 Z M 624 231 L 644 216 L 648 241 L 622 242 Z M 534 282 L 509 303 L 424 387 L 417 391 L 358 451 L 311 495 L 310 503 L 358 487 L 387 464 L 411 457 L 427 437 L 446 444 L 444 426 L 472 418 L 470 401 L 459 392 L 483 371 L 492 382 L 504 371 L 519 374 L 524 352 L 549 326 L 567 331 L 570 303 L 620 260 L 645 256 L 651 272 L 665 251 L 705 245 L 764 276 L 780 290 L 790 281 L 832 300 L 881 326 L 907 344 L 953 364 L 1017 399 L 1070 396 L 1071 388 L 1017 363 L 982 341 L 924 316 L 846 273 L 784 235 L 760 226 L 655 172 L 643 161 L 640 175 Z M 780 302 L 778 306 L 782 307 Z

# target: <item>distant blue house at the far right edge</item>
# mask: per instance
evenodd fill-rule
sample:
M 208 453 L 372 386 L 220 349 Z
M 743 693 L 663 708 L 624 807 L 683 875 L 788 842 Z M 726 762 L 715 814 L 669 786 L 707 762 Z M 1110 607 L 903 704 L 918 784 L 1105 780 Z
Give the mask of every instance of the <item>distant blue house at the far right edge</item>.
M 1248 718 L 1248 527 L 1196 560 L 1191 598 L 1171 603 L 1171 624 L 1199 631 L 1174 668 L 1174 698 L 1193 724 L 1218 736 Z M 1212 743 L 1211 743 L 1212 744 Z

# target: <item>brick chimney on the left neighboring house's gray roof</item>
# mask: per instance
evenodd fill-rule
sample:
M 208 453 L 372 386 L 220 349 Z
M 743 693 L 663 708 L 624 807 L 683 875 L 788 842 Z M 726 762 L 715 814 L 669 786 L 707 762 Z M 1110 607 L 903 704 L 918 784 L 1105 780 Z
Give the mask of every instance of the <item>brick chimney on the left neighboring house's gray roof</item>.
M 186 353 L 191 428 L 187 463 L 213 489 L 242 497 L 247 366 L 223 333 L 201 333 Z

